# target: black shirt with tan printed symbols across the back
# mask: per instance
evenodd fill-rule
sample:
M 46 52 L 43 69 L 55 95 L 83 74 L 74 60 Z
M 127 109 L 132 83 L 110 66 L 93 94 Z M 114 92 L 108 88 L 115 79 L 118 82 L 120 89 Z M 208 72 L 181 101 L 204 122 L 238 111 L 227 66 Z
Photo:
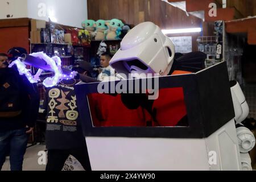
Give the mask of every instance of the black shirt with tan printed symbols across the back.
M 85 145 L 74 88 L 78 82 L 80 80 L 65 80 L 47 89 L 44 101 L 47 149 L 65 150 Z

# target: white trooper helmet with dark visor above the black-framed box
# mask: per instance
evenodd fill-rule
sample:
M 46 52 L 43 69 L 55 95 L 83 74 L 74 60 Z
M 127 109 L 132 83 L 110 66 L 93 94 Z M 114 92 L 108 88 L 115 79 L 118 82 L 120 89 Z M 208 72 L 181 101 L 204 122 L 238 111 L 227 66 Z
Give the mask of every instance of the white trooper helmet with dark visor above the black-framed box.
M 171 39 L 152 22 L 135 26 L 126 34 L 110 66 L 127 77 L 129 73 L 168 75 L 174 62 L 175 47 Z

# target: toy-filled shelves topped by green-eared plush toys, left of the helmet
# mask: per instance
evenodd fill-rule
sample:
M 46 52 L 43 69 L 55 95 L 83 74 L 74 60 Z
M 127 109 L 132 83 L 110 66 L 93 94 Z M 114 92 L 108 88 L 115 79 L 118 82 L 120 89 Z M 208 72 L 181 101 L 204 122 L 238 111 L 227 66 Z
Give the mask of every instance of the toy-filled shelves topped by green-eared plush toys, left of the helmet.
M 101 54 L 108 52 L 114 55 L 122 38 L 131 29 L 118 19 L 85 20 L 81 25 L 83 28 L 32 19 L 30 51 L 43 51 L 50 57 L 59 56 L 65 68 L 72 69 L 78 60 L 89 61 L 94 68 L 98 68 Z M 49 75 L 51 73 L 44 73 L 43 76 Z M 97 77 L 97 73 L 93 76 Z

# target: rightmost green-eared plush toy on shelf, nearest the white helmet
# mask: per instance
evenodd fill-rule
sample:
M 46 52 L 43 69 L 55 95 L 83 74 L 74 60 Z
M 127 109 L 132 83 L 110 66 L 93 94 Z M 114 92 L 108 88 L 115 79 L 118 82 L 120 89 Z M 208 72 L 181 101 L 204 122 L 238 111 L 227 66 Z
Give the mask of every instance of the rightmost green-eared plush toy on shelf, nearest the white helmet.
M 121 35 L 123 22 L 119 19 L 112 19 L 110 22 L 106 23 L 109 29 L 106 31 L 106 39 L 107 40 L 115 40 L 119 39 L 119 35 Z

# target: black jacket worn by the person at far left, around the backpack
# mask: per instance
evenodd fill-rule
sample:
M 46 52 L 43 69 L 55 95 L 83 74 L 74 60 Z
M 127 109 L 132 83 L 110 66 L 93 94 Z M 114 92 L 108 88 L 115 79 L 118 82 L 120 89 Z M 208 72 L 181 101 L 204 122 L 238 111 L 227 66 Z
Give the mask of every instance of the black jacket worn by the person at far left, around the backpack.
M 3 93 L 5 92 L 3 86 L 6 82 L 15 82 L 15 86 L 18 86 L 22 112 L 16 117 L 0 117 L 0 132 L 18 130 L 26 126 L 34 127 L 39 109 L 39 96 L 36 85 L 30 84 L 26 77 L 20 76 L 16 68 L 0 69 L 0 94 L 2 96 L 5 94 Z

